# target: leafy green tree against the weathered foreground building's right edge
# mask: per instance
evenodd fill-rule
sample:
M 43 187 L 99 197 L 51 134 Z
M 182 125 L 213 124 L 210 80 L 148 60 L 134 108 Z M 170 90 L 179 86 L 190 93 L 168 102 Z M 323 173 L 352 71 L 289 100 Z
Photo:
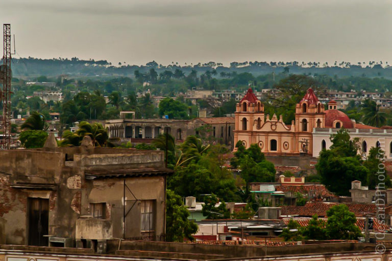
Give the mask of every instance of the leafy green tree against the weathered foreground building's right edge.
M 192 235 L 198 231 L 198 225 L 188 217 L 189 211 L 182 204 L 181 197 L 174 191 L 166 190 L 166 241 L 194 240 Z

